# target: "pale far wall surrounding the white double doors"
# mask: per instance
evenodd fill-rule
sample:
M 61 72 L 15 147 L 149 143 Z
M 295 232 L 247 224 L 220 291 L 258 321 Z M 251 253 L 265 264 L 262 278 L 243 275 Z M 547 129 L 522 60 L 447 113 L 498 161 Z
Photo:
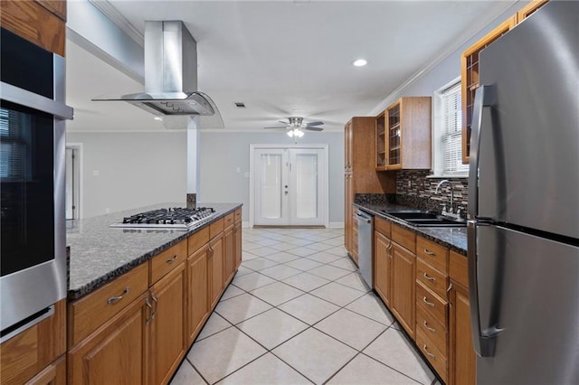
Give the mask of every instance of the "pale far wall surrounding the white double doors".
M 344 221 L 344 133 L 316 132 L 298 144 L 327 144 L 329 163 L 329 221 Z M 249 221 L 250 145 L 293 144 L 283 132 L 234 133 L 201 131 L 201 191 L 197 201 L 241 202 L 243 221 Z M 237 173 L 237 167 L 240 172 Z

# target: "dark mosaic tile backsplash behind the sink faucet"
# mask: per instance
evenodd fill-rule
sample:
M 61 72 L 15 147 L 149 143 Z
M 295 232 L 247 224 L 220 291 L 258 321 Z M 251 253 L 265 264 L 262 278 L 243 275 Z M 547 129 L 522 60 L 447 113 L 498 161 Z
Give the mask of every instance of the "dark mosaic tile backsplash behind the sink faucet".
M 421 210 L 441 211 L 442 203 L 447 210 L 451 202 L 451 188 L 448 184 L 441 186 L 439 193 L 434 193 L 436 185 L 443 179 L 448 179 L 454 190 L 454 211 L 461 207 L 466 213 L 468 196 L 468 180 L 465 178 L 426 178 L 432 174 L 428 170 L 403 170 L 396 173 L 396 202 Z

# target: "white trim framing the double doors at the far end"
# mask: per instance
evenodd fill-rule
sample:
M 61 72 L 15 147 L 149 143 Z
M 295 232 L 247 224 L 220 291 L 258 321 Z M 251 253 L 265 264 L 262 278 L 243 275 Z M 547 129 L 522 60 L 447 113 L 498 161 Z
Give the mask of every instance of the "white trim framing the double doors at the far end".
M 324 197 L 325 201 L 323 203 L 323 206 L 320 205 L 320 207 L 323 207 L 323 213 L 322 213 L 322 218 L 324 221 L 324 226 L 326 226 L 327 229 L 329 229 L 329 154 L 328 154 L 328 146 L 327 143 L 326 144 L 297 144 L 297 145 L 283 145 L 283 144 L 272 144 L 272 145 L 266 145 L 266 144 L 258 144 L 258 145 L 250 145 L 250 207 L 249 207 L 249 211 L 250 211 L 250 221 L 249 221 L 249 227 L 253 227 L 253 223 L 255 220 L 255 186 L 254 186 L 254 182 L 255 182 L 255 178 L 254 178 L 254 173 L 255 173 L 255 164 L 253 164 L 253 155 L 255 153 L 256 149 L 268 149 L 268 148 L 273 148 L 273 149 L 282 149 L 282 148 L 320 148 L 324 150 L 324 175 L 320 180 L 321 183 L 321 188 L 322 188 L 322 196 Z

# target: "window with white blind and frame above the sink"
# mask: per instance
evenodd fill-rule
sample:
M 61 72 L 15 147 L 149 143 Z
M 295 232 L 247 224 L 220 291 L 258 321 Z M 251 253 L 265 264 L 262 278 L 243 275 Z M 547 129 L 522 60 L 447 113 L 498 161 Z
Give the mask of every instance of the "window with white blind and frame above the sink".
M 433 174 L 467 176 L 469 164 L 462 164 L 460 79 L 434 93 Z

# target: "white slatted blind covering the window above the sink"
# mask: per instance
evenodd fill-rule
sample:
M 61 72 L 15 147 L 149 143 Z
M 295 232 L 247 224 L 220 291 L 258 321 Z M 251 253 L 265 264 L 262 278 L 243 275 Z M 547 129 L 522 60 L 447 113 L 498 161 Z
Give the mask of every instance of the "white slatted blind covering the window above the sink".
M 442 91 L 444 174 L 468 173 L 469 164 L 462 164 L 460 82 Z

